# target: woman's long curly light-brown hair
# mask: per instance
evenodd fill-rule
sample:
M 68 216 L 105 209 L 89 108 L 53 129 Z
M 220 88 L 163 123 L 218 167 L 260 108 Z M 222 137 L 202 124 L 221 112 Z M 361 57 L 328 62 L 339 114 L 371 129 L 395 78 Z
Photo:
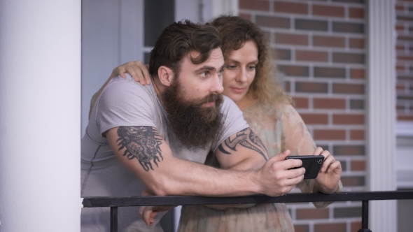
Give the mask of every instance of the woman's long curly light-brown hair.
M 246 41 L 254 41 L 257 45 L 258 64 L 255 68 L 255 78 L 247 94 L 265 104 L 293 103 L 291 97 L 284 92 L 276 80 L 278 71 L 276 66 L 272 66 L 272 55 L 264 31 L 253 22 L 237 16 L 217 17 L 210 24 L 219 31 L 224 57 L 244 46 Z

